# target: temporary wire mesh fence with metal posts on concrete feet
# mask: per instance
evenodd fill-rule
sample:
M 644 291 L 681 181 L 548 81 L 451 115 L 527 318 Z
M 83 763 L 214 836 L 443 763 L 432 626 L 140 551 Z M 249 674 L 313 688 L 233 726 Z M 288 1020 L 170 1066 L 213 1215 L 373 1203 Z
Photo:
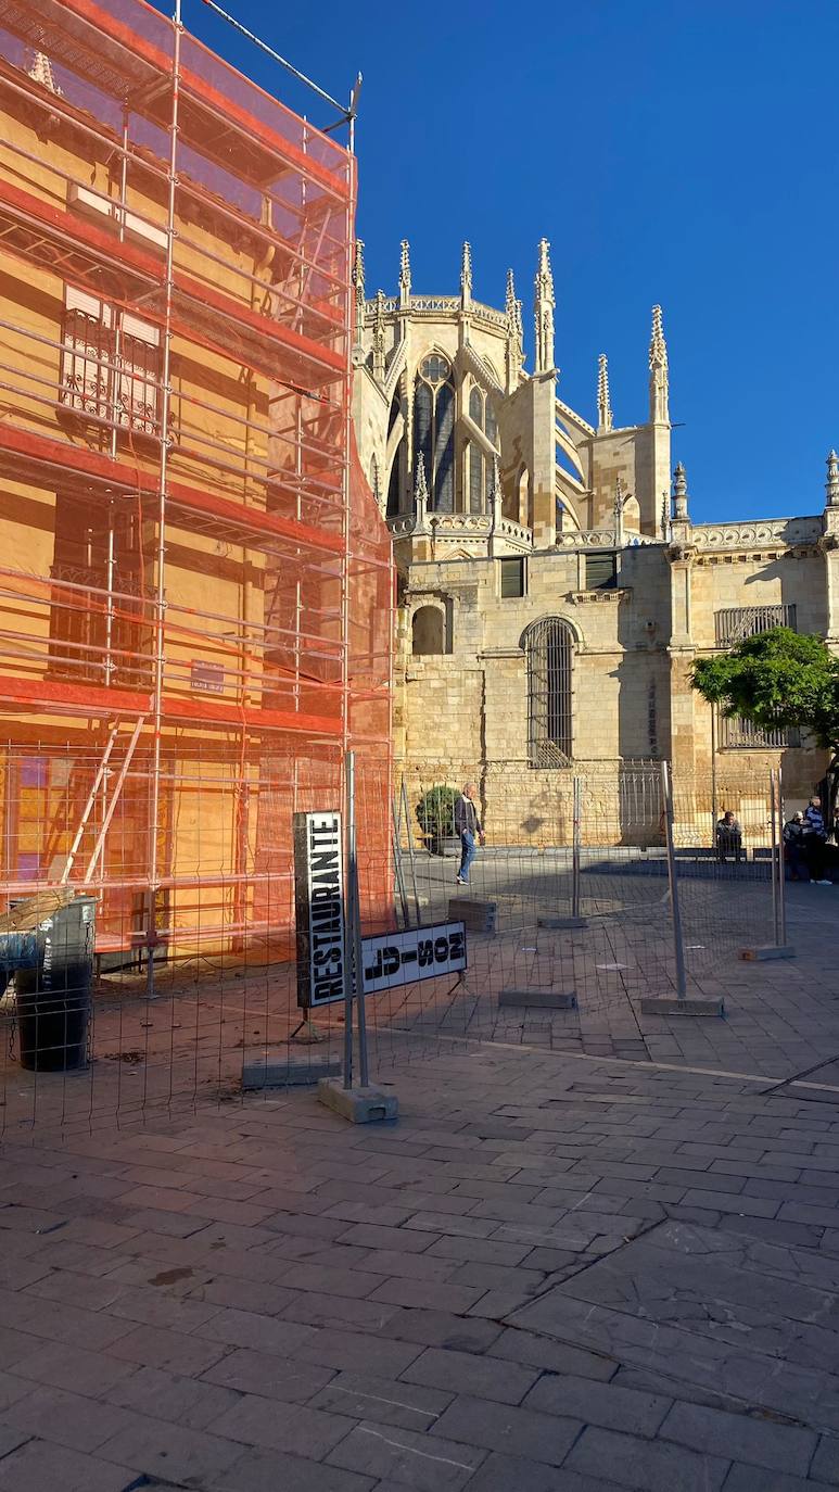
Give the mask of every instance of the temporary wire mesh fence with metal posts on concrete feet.
M 194 943 L 180 958 L 161 949 L 152 998 L 142 949 L 134 967 L 110 968 L 98 956 L 86 1067 L 21 1065 L 30 1040 L 28 985 L 9 958 L 16 988 L 6 995 L 7 1132 L 130 1120 L 203 1100 L 234 1101 L 243 1091 L 313 1085 L 328 1074 L 398 1083 L 405 1062 L 462 1043 L 648 1059 L 665 1038 L 650 1041 L 644 998 L 718 1000 L 742 968 L 744 950 L 785 943 L 784 810 L 779 782 L 769 774 L 763 788 L 724 783 L 739 840 L 732 830 L 717 843 L 709 785 L 694 774 L 677 773 L 671 785 L 659 762 L 557 771 L 538 783 L 538 815 L 522 815 L 532 777 L 522 768 L 519 779 L 505 764 L 507 791 L 492 789 L 489 774 L 475 791 L 486 843 L 462 886 L 459 789 L 438 768 L 395 783 L 386 764 L 362 753 L 256 768 L 249 777 L 256 821 L 264 813 L 274 834 L 265 849 L 270 870 L 247 883 L 247 894 L 261 897 L 259 925 L 213 952 L 219 928 L 229 931 L 225 907 L 243 892 L 225 874 L 213 809 L 215 797 L 234 786 L 209 756 L 191 783 L 182 782 L 207 877 L 161 888 L 167 897 L 188 891 L 194 898 Z M 295 889 L 291 849 L 295 813 L 331 825 L 341 819 L 335 834 L 346 836 L 346 925 L 338 930 L 332 888 L 326 919 L 313 924 L 297 950 L 288 931 L 277 934 L 295 921 L 295 897 L 303 928 L 300 864 Z M 532 843 L 536 818 L 539 843 Z M 130 843 L 130 822 L 124 837 Z M 383 883 L 390 900 L 381 898 Z M 89 891 L 97 898 L 101 885 L 92 882 Z M 42 912 L 49 921 L 51 907 Z M 174 925 L 165 903 L 158 916 Z M 0 967 L 3 947 L 19 952 L 3 937 L 0 928 Z M 331 962 L 337 943 L 341 964 Z M 308 958 L 322 959 L 334 988 L 329 998 L 301 1004 Z M 353 964 L 362 974 L 355 982 Z M 69 1041 L 72 1015 L 60 1006 L 60 1016 Z

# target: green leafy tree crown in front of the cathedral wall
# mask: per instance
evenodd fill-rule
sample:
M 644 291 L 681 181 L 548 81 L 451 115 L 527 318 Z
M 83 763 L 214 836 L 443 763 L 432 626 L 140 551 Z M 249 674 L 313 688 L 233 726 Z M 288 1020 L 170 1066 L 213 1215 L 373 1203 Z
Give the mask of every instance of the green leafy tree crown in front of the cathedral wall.
M 773 627 L 730 652 L 699 658 L 693 688 L 723 715 L 764 731 L 799 728 L 820 746 L 839 746 L 839 659 L 821 637 Z

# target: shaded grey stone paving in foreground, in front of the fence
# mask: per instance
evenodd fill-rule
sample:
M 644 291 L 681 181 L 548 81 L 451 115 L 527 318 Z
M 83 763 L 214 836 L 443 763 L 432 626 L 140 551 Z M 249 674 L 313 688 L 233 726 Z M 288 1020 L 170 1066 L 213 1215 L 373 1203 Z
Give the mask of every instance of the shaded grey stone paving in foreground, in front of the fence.
M 475 1047 L 0 1158 L 3 1492 L 839 1486 L 839 1091 Z

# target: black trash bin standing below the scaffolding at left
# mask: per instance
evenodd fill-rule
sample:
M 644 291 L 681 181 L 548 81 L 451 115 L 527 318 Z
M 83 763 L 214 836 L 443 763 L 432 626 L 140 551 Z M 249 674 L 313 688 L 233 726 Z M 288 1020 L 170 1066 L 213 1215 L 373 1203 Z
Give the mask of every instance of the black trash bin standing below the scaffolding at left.
M 76 897 L 39 924 L 34 964 L 15 973 L 21 1067 L 34 1073 L 86 1067 L 94 937 L 94 897 Z

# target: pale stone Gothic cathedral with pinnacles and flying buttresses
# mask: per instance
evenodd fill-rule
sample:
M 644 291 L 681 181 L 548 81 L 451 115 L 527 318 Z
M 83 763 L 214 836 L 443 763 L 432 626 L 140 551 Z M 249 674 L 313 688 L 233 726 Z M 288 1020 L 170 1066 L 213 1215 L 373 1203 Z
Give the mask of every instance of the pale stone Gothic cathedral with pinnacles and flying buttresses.
M 563 776 L 617 780 L 639 761 L 672 761 L 697 792 L 717 777 L 757 795 L 781 765 L 787 798 L 803 798 L 824 752 L 717 719 L 690 668 L 775 625 L 839 648 L 835 454 L 821 512 L 696 524 L 671 464 L 660 307 L 638 425 L 615 422 L 605 357 L 596 422 L 563 403 L 553 313 L 545 240 L 532 372 L 511 273 L 504 309 L 480 304 L 463 245 L 459 294 L 414 295 L 402 243 L 398 294 L 368 300 L 358 248 L 353 413 L 399 573 L 398 767 L 474 776 L 487 819 L 504 812 L 525 839 Z

